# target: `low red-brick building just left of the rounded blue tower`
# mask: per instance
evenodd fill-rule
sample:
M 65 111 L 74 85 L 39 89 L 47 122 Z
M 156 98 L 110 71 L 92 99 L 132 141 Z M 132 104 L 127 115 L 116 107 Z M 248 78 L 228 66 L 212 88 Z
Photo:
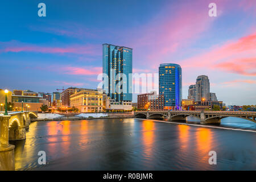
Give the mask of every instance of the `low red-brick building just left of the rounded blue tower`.
M 157 95 L 156 92 L 139 94 L 137 96 L 137 105 L 139 110 L 163 110 L 164 96 Z

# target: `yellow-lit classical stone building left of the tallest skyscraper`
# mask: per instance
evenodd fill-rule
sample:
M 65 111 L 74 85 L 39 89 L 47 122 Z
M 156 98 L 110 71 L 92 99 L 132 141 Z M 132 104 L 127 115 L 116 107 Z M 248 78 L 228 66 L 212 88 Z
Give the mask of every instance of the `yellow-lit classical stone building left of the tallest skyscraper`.
M 98 113 L 103 111 L 103 93 L 94 89 L 75 89 L 70 98 L 71 106 L 81 113 Z

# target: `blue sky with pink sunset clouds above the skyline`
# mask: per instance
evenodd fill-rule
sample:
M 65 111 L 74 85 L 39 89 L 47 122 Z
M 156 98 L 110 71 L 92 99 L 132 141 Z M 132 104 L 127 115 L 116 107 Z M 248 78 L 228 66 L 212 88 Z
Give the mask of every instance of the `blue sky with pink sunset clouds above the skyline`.
M 180 64 L 183 98 L 207 75 L 226 105 L 256 104 L 255 0 L 13 0 L 1 2 L 0 20 L 2 89 L 96 89 L 109 43 L 133 48 L 133 73 Z

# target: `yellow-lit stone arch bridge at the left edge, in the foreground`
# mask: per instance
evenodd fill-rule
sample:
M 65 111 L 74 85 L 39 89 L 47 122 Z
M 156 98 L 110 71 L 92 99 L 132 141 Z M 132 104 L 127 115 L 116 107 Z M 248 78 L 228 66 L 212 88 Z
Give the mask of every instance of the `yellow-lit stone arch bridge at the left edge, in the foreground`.
M 0 113 L 0 171 L 14 170 L 14 145 L 9 140 L 26 139 L 26 129 L 31 118 L 37 118 L 37 111 Z

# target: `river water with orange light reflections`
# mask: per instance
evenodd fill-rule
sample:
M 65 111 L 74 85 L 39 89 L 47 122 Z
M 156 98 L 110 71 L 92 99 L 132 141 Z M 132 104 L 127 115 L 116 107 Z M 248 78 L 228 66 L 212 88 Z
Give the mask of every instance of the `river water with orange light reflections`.
M 229 130 L 135 118 L 32 122 L 27 139 L 12 143 L 15 169 L 255 170 L 255 125 L 240 118 L 222 119 L 219 127 Z M 38 164 L 39 151 L 46 165 Z

